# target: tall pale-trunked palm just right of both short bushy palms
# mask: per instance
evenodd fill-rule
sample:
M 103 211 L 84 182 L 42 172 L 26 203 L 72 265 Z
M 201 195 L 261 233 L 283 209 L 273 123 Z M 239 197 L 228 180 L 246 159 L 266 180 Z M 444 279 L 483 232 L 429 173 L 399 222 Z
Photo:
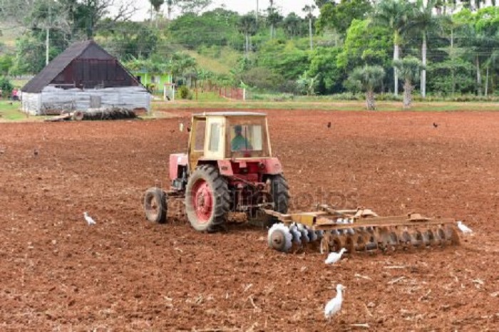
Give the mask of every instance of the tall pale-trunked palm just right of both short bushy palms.
M 421 96 L 426 97 L 426 52 L 427 52 L 427 37 L 431 31 L 442 29 L 440 16 L 433 15 L 433 8 L 438 0 L 417 0 L 411 23 L 408 24 L 408 29 L 414 33 L 421 33 L 421 62 L 423 69 L 421 70 Z M 425 6 L 426 2 L 426 6 Z

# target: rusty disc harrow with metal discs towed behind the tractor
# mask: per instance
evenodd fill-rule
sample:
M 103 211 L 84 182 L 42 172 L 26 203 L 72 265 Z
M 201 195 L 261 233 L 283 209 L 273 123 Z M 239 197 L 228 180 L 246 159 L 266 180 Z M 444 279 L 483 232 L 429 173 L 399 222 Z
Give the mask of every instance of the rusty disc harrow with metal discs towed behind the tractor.
M 453 219 L 431 219 L 421 214 L 379 217 L 370 209 L 335 210 L 320 205 L 319 211 L 279 214 L 268 233 L 269 247 L 298 251 L 319 247 L 321 253 L 345 248 L 349 253 L 446 247 L 459 244 Z

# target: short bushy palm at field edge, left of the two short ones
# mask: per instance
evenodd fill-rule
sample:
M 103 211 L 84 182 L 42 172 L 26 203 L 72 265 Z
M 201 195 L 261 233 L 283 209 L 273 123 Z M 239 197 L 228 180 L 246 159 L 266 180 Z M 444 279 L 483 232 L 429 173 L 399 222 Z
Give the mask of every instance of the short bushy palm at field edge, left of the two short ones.
M 361 90 L 366 91 L 366 108 L 376 110 L 374 90 L 383 83 L 385 70 L 381 66 L 357 67 L 349 76 L 349 81 Z

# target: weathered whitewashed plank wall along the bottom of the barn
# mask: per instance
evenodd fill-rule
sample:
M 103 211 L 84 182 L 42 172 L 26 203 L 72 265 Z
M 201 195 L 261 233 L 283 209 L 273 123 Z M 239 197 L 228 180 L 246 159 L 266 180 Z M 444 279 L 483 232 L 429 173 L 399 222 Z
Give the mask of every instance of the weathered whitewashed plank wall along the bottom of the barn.
M 47 86 L 41 93 L 23 93 L 22 109 L 29 115 L 49 110 L 88 110 L 88 108 L 145 108 L 150 110 L 150 93 L 142 86 L 103 89 L 62 89 Z

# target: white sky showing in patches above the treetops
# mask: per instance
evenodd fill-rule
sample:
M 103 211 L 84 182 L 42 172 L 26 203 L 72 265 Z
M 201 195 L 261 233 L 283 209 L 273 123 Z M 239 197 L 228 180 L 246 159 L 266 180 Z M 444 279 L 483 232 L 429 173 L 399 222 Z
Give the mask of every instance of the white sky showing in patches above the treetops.
M 138 0 L 137 2 L 140 11 L 134 16 L 134 19 L 142 20 L 149 17 L 150 2 L 148 0 Z M 269 0 L 259 0 L 258 3 L 260 13 L 264 12 L 264 10 L 269 6 Z M 247 14 L 249 11 L 257 9 L 257 0 L 214 0 L 213 5 L 209 9 L 215 9 L 220 7 L 222 4 L 225 5 L 227 10 L 237 11 L 240 14 Z M 304 16 L 302 9 L 307 4 L 314 4 L 314 0 L 274 0 L 274 5 L 281 10 L 281 13 L 284 16 L 292 11 L 299 16 Z M 166 6 L 164 6 L 163 10 L 165 9 Z M 318 14 L 318 11 L 316 14 Z

